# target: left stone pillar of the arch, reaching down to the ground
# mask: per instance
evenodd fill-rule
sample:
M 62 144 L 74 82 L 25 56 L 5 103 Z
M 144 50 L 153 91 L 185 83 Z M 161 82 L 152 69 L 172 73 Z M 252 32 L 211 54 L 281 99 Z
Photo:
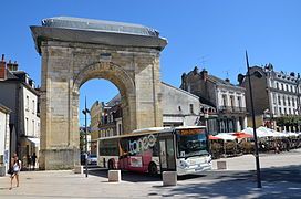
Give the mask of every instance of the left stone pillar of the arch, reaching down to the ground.
M 40 169 L 80 165 L 77 102 L 68 49 L 42 48 Z M 74 109 L 76 109 L 74 112 Z

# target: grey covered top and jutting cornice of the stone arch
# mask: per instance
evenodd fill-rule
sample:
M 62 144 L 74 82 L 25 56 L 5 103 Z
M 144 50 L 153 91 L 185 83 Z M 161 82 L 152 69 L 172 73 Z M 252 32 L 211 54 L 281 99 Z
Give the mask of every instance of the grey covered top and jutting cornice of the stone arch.
M 141 24 L 58 17 L 42 20 L 42 27 L 30 27 L 38 52 L 45 39 L 70 42 L 142 46 L 163 50 L 167 40 L 159 32 Z

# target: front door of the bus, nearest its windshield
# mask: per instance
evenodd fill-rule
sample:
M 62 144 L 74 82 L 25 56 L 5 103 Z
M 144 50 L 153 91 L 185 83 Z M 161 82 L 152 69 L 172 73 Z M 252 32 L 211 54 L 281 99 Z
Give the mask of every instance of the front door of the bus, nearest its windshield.
M 174 137 L 169 134 L 159 135 L 159 160 L 160 171 L 176 170 L 175 144 Z

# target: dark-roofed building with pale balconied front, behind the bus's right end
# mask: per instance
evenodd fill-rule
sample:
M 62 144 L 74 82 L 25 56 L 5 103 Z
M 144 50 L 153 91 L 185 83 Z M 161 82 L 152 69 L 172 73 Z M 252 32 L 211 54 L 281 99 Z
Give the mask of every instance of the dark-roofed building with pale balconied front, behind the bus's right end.
M 230 133 L 247 127 L 246 88 L 230 83 L 229 80 L 220 80 L 209 75 L 205 69 L 181 75 L 180 88 L 197 95 L 201 102 L 214 106 L 218 117 L 211 125 L 215 133 Z

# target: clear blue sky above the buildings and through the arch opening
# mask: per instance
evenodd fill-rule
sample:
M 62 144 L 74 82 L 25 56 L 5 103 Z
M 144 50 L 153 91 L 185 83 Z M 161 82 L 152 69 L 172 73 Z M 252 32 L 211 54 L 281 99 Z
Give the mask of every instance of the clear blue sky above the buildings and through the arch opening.
M 277 71 L 301 72 L 300 9 L 299 0 L 3 0 L 0 53 L 18 61 L 40 85 L 41 57 L 29 25 L 61 15 L 138 23 L 168 40 L 160 59 L 164 82 L 179 86 L 180 75 L 198 65 L 236 83 L 237 74 L 246 72 L 246 50 L 250 65 L 272 63 Z M 80 108 L 85 95 L 92 106 L 116 93 L 107 81 L 89 81 L 81 88 Z

